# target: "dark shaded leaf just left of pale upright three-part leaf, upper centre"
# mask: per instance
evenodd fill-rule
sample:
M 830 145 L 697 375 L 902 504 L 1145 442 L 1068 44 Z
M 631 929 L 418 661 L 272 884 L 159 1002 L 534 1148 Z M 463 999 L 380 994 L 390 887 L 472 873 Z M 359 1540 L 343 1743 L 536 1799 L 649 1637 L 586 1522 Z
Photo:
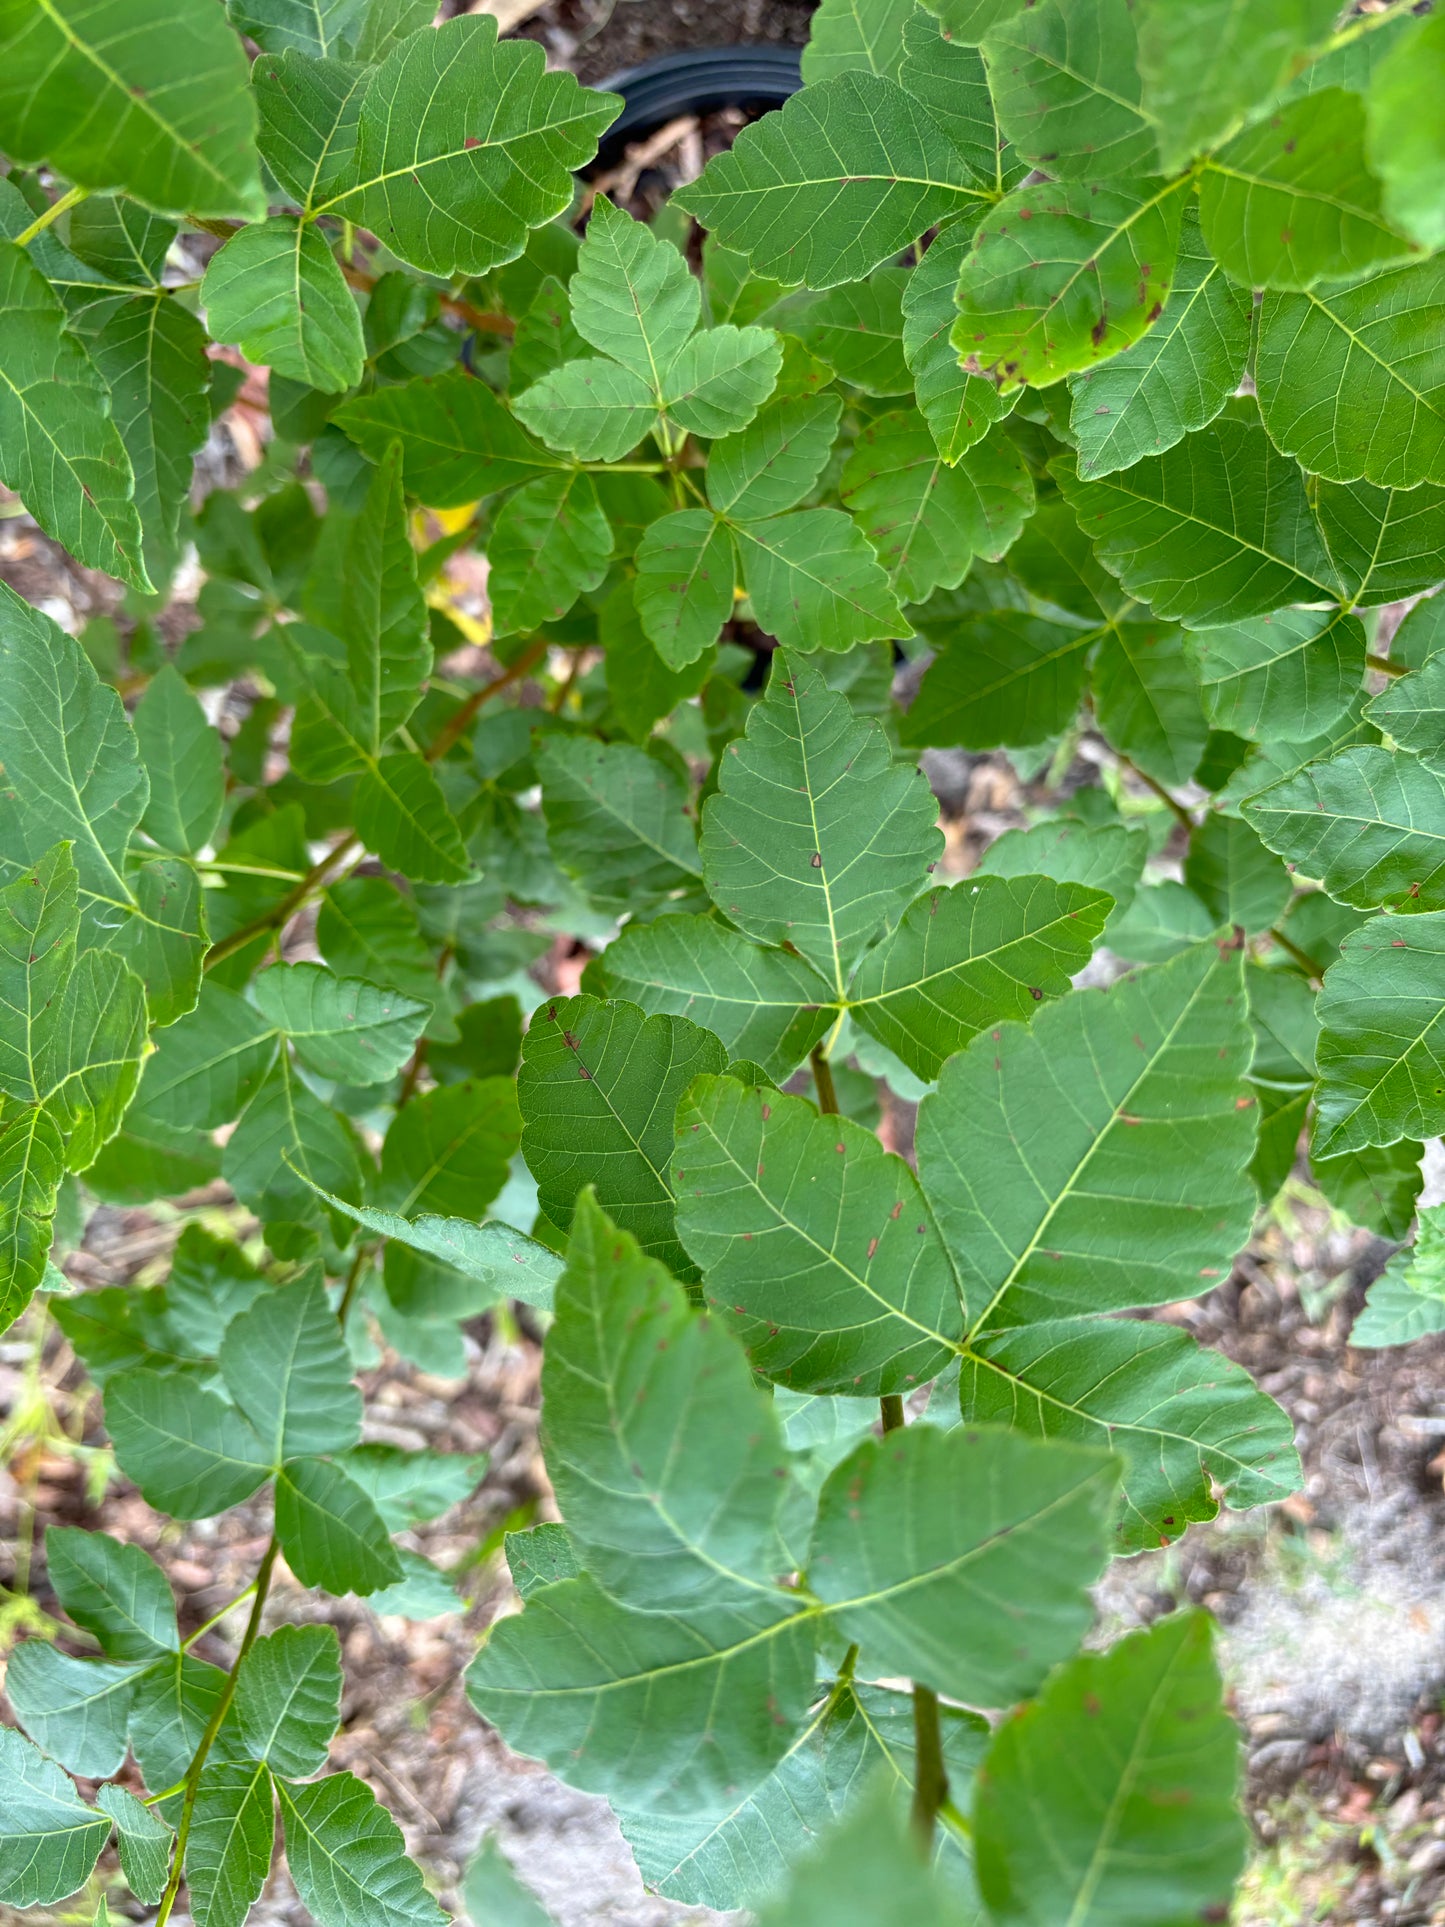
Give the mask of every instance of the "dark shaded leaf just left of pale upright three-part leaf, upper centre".
M 462 368 L 358 395 L 333 420 L 378 462 L 399 441 L 407 493 L 434 509 L 457 509 L 559 466 L 486 382 Z

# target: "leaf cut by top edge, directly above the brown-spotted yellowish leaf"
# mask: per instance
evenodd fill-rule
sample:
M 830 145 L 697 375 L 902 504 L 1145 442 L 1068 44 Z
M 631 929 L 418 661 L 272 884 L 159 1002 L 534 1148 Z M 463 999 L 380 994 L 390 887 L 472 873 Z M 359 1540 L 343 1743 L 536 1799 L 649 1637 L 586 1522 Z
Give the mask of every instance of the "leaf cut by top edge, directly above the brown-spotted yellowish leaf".
M 983 58 L 1002 133 L 1056 179 L 1152 173 L 1137 56 L 1127 0 L 1042 0 L 998 21 Z

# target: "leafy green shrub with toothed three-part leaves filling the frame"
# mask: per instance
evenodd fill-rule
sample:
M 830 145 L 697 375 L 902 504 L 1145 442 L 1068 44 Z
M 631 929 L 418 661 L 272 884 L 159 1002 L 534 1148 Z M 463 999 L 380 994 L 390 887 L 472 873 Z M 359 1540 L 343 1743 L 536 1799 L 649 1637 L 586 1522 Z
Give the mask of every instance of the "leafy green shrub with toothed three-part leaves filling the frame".
M 1225 1919 L 1210 1623 L 1090 1588 L 1299 1465 L 1160 1312 L 1293 1181 L 1445 1328 L 1445 19 L 1366 4 L 823 0 L 644 222 L 486 13 L 0 0 L 0 480 L 102 611 L 0 592 L 0 1316 L 266 1545 L 183 1636 L 44 1534 L 8 1908 L 239 1927 L 279 1827 L 441 1917 L 272 1584 L 462 1609 L 486 1466 L 362 1387 L 489 1312 L 555 1517 L 470 1702 L 651 1888 Z

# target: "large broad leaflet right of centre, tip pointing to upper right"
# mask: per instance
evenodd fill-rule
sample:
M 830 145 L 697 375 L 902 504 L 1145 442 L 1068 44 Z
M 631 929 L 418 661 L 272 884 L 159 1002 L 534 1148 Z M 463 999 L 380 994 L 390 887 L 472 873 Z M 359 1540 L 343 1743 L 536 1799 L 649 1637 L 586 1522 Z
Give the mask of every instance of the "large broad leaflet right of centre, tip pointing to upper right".
M 1227 1276 L 1254 1218 L 1254 1118 L 1237 1104 L 1252 1048 L 1239 952 L 1198 944 L 944 1068 L 919 1172 L 971 1333 Z

